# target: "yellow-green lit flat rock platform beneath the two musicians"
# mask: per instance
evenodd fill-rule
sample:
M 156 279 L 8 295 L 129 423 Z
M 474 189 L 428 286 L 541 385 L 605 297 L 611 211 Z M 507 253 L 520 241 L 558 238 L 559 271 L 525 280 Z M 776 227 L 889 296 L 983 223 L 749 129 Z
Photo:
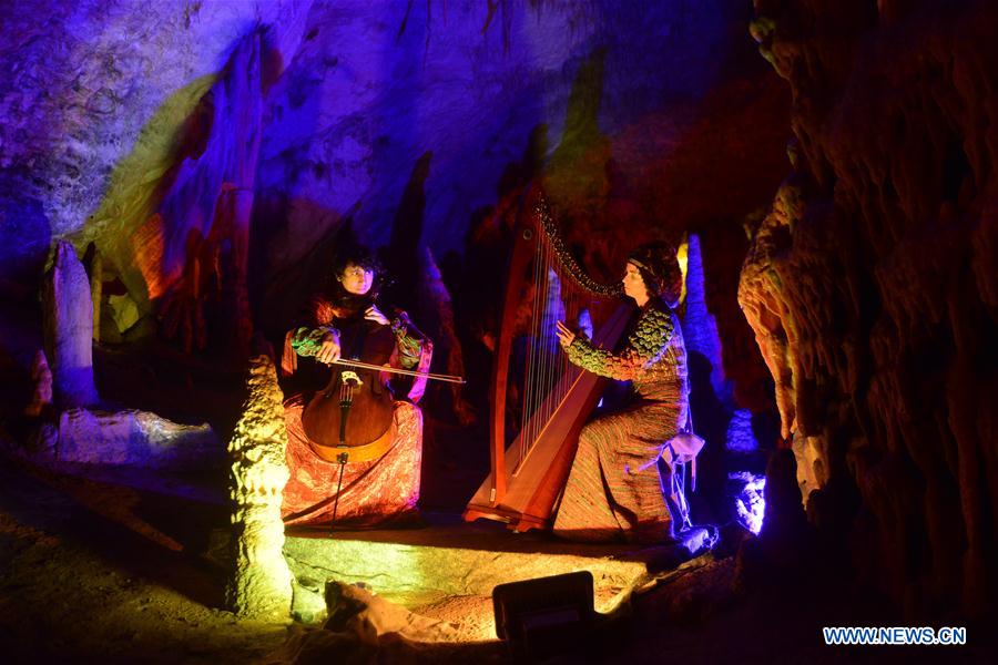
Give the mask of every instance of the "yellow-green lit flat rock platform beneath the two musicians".
M 434 521 L 437 520 L 431 516 Z M 500 524 L 455 522 L 396 531 L 291 530 L 284 554 L 295 576 L 363 584 L 391 603 L 455 624 L 455 638 L 495 638 L 497 584 L 588 570 L 595 607 L 609 612 L 648 579 L 629 545 L 581 545 Z

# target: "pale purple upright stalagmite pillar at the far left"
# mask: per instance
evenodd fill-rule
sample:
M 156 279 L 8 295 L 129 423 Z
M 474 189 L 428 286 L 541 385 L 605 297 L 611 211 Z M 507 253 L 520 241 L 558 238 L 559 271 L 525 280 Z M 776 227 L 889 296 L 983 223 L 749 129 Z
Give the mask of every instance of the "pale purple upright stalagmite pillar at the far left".
M 73 246 L 61 241 L 45 279 L 45 355 L 52 361 L 61 407 L 85 407 L 99 397 L 93 383 L 93 300 L 90 279 Z

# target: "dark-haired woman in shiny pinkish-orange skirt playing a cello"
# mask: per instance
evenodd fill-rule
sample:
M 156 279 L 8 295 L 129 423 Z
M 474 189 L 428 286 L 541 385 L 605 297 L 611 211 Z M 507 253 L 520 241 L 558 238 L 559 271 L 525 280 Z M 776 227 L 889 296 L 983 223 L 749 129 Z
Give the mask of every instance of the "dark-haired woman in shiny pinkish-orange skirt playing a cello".
M 334 512 L 337 524 L 349 526 L 404 523 L 417 516 L 422 413 L 415 402 L 426 377 L 338 364 L 356 359 L 421 375 L 432 344 L 404 311 L 389 319 L 378 308 L 384 270 L 366 248 L 342 252 L 333 275 L 303 325 L 285 337 L 282 374 L 298 390 L 285 400 L 291 479 L 282 514 L 286 524 L 329 524 Z M 343 410 L 347 392 L 353 406 Z

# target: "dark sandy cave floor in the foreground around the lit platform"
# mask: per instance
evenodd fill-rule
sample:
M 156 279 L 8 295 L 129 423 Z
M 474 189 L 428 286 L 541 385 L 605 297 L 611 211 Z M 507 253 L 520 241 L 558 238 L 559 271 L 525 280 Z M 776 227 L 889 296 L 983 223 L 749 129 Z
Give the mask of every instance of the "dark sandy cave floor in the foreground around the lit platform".
M 298 624 L 242 621 L 221 610 L 225 571 L 203 556 L 224 524 L 222 504 L 0 463 L 0 648 L 3 662 L 283 663 L 370 649 Z M 826 647 L 821 625 L 869 623 L 872 610 L 838 590 L 818 606 L 805 593 L 735 594 L 735 559 L 706 555 L 664 573 L 631 612 L 597 636 L 588 662 L 988 662 L 969 648 Z M 824 590 L 819 589 L 825 586 Z M 816 597 L 816 596 L 815 596 Z M 457 620 L 481 598 L 452 597 L 424 612 Z M 971 627 L 971 637 L 978 628 Z M 325 634 L 324 634 L 325 633 Z M 497 643 L 383 647 L 381 662 L 505 662 Z M 325 654 L 326 656 L 323 656 Z M 332 661 L 328 661 L 332 662 Z M 576 662 L 566 658 L 557 662 Z

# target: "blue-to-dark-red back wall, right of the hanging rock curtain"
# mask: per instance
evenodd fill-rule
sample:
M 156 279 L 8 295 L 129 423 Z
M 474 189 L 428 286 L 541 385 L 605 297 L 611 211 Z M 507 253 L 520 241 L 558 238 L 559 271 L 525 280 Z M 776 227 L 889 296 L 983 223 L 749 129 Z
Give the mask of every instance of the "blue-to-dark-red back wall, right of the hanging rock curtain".
M 408 263 L 420 244 L 442 260 L 530 178 L 607 279 L 637 242 L 765 205 L 785 171 L 787 96 L 748 17 L 730 0 L 317 2 L 265 109 L 257 311 L 287 318 L 286 295 L 314 283 L 347 221 L 374 245 L 404 237 Z M 468 267 L 459 280 L 495 279 Z M 744 326 L 735 285 L 722 299 Z

